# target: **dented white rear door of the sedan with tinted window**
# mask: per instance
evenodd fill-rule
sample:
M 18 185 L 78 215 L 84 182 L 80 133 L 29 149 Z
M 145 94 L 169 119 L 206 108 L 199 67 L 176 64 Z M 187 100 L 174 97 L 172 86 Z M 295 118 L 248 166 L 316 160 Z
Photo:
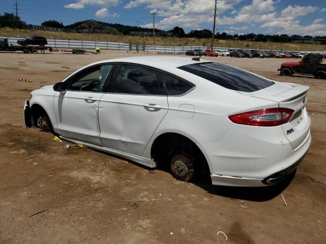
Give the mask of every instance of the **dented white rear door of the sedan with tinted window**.
M 98 110 L 103 146 L 141 156 L 168 112 L 160 72 L 121 65 L 108 92 L 101 97 Z

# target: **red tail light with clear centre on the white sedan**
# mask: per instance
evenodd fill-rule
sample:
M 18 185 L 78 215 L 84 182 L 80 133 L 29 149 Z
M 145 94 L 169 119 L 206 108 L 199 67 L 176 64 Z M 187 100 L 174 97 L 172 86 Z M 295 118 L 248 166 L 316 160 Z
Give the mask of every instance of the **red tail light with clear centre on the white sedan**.
M 240 125 L 279 126 L 287 123 L 293 112 L 294 110 L 289 108 L 266 108 L 230 115 L 229 119 Z

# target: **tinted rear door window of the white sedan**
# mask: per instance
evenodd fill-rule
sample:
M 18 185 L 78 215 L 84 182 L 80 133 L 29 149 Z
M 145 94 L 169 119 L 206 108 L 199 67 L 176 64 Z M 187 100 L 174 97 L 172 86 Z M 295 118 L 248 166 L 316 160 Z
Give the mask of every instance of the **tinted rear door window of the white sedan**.
M 122 65 L 117 76 L 113 93 L 135 95 L 164 95 L 159 84 L 160 73 L 134 65 Z

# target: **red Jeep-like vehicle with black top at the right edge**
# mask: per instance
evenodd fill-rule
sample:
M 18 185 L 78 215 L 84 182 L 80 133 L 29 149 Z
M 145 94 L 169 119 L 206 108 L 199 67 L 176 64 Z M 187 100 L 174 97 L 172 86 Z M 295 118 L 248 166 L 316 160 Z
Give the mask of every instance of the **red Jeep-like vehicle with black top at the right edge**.
M 309 53 L 300 62 L 286 62 L 281 65 L 280 75 L 307 74 L 318 79 L 326 79 L 326 65 L 322 64 L 323 56 Z

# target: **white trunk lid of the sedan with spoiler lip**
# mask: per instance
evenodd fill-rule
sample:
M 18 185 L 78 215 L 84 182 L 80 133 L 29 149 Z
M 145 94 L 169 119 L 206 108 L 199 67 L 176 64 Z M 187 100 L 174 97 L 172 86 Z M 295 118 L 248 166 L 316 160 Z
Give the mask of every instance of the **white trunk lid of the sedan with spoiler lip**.
M 304 142 L 310 131 L 310 118 L 305 107 L 308 89 L 307 85 L 276 82 L 274 85 L 256 92 L 239 93 L 278 102 L 280 108 L 293 109 L 291 119 L 281 127 L 292 148 L 295 149 Z

